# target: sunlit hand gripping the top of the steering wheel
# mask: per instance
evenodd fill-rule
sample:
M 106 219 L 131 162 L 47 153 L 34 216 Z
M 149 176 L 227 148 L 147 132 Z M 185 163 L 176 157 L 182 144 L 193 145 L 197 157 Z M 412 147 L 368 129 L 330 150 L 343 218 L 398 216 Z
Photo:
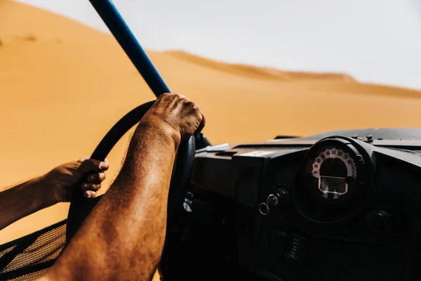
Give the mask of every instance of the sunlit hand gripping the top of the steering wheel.
M 185 96 L 164 93 L 140 120 L 138 127 L 154 127 L 172 133 L 176 141 L 184 141 L 201 132 L 206 124 L 199 105 Z

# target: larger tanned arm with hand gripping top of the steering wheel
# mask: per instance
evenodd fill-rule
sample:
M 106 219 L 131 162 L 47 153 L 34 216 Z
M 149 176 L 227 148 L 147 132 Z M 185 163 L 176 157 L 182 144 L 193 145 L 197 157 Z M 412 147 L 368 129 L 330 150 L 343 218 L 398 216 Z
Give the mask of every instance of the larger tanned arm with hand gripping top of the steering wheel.
M 195 103 L 160 96 L 135 130 L 119 176 L 45 280 L 152 279 L 165 240 L 175 153 L 203 126 Z

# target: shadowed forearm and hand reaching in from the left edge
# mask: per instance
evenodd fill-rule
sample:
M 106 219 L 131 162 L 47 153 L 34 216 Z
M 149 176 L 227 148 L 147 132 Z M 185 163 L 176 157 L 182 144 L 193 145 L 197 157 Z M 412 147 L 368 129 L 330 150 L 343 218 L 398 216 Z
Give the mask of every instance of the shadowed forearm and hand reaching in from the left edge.
M 107 162 L 85 157 L 57 166 L 44 176 L 0 190 L 0 230 L 40 209 L 69 201 L 75 185 L 85 191 L 86 197 L 95 196 L 101 181 L 105 179 L 104 171 L 107 168 Z M 85 174 L 91 176 L 82 184 L 81 179 Z

